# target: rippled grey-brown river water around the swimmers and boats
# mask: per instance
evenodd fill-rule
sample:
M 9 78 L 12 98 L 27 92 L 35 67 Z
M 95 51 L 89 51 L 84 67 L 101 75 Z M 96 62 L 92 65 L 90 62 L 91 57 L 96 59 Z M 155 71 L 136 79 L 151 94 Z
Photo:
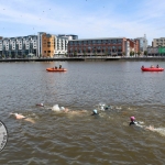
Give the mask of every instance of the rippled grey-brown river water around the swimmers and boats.
M 45 70 L 59 64 L 66 73 Z M 165 74 L 142 73 L 142 65 L 151 62 L 1 63 L 0 120 L 9 139 L 0 164 L 165 164 Z M 52 111 L 56 103 L 73 112 Z M 99 103 L 111 109 L 99 111 Z M 131 116 L 143 127 L 130 127 Z

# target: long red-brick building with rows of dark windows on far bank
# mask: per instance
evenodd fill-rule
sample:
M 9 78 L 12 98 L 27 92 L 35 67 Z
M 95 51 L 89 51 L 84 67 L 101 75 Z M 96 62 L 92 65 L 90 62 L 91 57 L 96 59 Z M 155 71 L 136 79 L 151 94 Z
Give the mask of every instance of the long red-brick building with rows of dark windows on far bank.
M 68 56 L 130 56 L 138 53 L 139 41 L 125 37 L 102 37 L 68 41 Z

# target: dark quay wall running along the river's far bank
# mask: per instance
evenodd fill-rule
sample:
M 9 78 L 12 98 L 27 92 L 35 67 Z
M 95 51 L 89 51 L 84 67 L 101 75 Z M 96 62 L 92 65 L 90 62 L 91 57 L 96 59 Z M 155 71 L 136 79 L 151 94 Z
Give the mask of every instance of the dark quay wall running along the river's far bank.
M 0 59 L 0 63 L 14 62 L 87 62 L 87 61 L 125 61 L 125 62 L 165 62 L 165 57 L 56 57 L 56 58 L 7 58 Z

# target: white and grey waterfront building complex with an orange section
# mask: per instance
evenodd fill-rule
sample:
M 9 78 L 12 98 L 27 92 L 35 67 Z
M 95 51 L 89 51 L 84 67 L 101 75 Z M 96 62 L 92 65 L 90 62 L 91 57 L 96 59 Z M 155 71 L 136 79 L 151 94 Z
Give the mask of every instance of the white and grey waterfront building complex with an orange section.
M 47 34 L 38 32 L 37 35 L 2 37 L 0 36 L 0 57 L 54 57 L 67 54 L 69 40 L 77 40 L 73 34 Z

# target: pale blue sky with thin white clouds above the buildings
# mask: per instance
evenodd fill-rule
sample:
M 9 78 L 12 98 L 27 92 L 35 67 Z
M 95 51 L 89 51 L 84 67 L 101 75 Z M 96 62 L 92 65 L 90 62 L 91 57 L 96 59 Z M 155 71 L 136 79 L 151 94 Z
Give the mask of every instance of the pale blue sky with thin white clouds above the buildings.
M 0 36 L 165 37 L 165 0 L 1 0 Z

